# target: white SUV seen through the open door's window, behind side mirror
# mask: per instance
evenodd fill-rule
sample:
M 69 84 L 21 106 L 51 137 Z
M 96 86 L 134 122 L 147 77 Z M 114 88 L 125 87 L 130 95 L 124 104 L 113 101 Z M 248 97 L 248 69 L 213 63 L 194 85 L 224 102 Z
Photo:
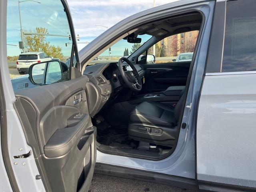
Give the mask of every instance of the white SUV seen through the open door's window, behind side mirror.
M 43 61 L 50 61 L 52 58 L 46 55 L 44 52 L 25 52 L 20 54 L 16 61 L 17 70 L 20 74 L 28 72 L 30 65 L 34 63 L 40 63 Z

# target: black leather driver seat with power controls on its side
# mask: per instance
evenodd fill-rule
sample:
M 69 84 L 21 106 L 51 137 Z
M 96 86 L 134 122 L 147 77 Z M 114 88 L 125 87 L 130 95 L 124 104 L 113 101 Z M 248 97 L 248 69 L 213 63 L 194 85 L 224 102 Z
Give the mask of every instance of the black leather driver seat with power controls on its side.
M 130 114 L 128 135 L 138 141 L 173 146 L 177 134 L 184 90 L 175 108 L 160 102 L 142 102 Z

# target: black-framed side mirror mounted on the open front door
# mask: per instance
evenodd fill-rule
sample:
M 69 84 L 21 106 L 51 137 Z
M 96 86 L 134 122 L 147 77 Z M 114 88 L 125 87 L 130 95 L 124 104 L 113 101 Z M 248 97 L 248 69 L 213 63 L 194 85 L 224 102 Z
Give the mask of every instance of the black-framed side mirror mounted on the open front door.
M 62 65 L 58 60 L 32 64 L 28 68 L 28 79 L 34 85 L 47 85 L 62 81 Z

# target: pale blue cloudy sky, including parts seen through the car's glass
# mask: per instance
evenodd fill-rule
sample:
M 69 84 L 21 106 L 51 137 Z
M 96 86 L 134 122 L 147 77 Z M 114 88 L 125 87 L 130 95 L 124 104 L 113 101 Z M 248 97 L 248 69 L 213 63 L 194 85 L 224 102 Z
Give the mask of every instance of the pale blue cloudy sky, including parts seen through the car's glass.
M 156 6 L 176 0 L 156 0 Z M 20 3 L 22 28 L 34 32 L 38 26 L 48 29 L 50 34 L 68 36 L 65 14 L 60 6 L 60 0 L 38 0 L 36 2 Z M 70 7 L 76 35 L 79 34 L 78 49 L 86 46 L 80 42 L 90 42 L 107 28 L 110 28 L 124 18 L 153 7 L 153 0 L 67 0 Z M 106 26 L 95 26 L 102 25 Z M 20 40 L 20 20 L 18 0 L 8 0 L 7 43 L 17 45 Z M 142 38 L 142 42 L 148 37 Z M 64 56 L 70 55 L 71 45 L 67 37 L 47 36 L 47 41 L 62 48 Z M 124 50 L 127 43 L 121 44 L 119 50 Z M 9 56 L 20 54 L 17 46 L 7 46 Z M 112 49 L 112 54 L 115 50 Z

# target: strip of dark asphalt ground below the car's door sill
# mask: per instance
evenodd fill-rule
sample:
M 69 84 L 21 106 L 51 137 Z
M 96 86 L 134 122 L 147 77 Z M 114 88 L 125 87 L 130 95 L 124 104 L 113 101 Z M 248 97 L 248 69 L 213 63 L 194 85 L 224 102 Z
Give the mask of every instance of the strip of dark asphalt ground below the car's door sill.
M 89 192 L 196 192 L 173 186 L 94 174 Z

